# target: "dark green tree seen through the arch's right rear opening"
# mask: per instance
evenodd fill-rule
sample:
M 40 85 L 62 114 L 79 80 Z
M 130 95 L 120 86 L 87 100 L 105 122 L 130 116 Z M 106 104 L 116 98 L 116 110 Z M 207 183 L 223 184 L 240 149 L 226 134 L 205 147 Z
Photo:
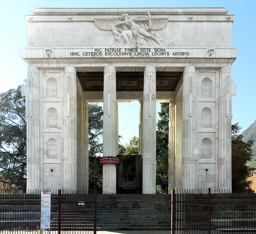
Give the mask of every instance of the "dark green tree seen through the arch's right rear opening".
M 169 103 L 161 102 L 158 112 L 160 119 L 156 127 L 156 192 L 162 193 L 161 180 L 168 182 L 168 145 L 169 145 Z

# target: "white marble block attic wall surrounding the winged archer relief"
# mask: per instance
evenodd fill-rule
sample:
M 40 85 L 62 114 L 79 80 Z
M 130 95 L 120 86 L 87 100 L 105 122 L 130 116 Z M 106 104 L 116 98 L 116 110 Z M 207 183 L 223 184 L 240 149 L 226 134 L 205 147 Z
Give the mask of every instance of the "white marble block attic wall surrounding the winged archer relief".
M 231 25 L 234 16 L 222 8 L 209 11 L 190 9 L 36 9 L 26 16 L 28 47 L 90 47 L 110 46 L 114 43 L 112 19 L 123 13 L 131 17 L 147 15 L 168 18 L 166 27 L 157 30 L 165 46 L 174 47 L 230 47 Z M 52 15 L 56 14 L 56 15 Z M 97 15 L 98 14 L 98 15 Z M 112 21 L 113 22 L 112 22 Z M 110 28 L 103 22 L 111 22 Z M 96 24 L 95 24 L 96 23 Z

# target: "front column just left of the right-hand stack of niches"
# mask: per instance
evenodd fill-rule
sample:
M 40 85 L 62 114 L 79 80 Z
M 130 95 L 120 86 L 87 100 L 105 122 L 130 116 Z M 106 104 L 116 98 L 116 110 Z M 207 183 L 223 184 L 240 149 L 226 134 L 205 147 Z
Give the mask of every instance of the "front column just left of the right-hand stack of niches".
M 196 188 L 195 67 L 183 71 L 182 97 L 182 188 Z

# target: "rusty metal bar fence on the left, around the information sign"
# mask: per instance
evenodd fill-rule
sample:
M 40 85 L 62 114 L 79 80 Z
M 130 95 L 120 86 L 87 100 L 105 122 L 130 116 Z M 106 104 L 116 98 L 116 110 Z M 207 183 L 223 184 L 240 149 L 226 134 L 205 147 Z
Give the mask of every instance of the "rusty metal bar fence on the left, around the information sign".
M 51 233 L 96 234 L 96 190 L 52 190 Z M 40 230 L 41 191 L 28 193 L 0 191 L 0 231 L 9 233 L 42 233 Z

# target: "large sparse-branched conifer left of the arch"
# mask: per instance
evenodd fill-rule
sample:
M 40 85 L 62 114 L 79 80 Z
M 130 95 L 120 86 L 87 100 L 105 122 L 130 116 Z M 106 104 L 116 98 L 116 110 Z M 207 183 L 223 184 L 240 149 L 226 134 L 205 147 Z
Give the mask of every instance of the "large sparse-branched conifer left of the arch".
M 0 94 L 0 181 L 13 189 L 26 189 L 25 115 L 20 86 Z

